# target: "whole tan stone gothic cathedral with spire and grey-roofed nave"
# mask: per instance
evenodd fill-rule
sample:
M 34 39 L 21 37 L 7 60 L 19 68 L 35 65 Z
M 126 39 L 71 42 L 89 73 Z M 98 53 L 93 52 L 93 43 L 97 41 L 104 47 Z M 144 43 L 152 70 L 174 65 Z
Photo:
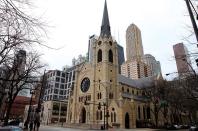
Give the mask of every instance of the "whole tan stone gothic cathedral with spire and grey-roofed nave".
M 118 73 L 117 42 L 111 36 L 106 1 L 100 36 L 92 44 L 91 62 L 76 68 L 67 123 L 136 128 L 137 120 L 151 119 L 142 88 L 152 80 L 132 80 Z

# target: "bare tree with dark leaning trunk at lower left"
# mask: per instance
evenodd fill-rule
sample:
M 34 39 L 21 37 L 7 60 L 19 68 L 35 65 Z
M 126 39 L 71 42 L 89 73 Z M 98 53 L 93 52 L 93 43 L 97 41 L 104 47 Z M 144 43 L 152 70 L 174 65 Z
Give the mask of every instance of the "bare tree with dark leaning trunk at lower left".
M 5 125 L 8 122 L 12 104 L 19 91 L 27 88 L 26 85 L 35 84 L 35 78 L 38 77 L 40 70 L 45 66 L 41 64 L 39 58 L 40 55 L 37 53 L 29 53 L 26 57 L 25 65 L 21 65 L 16 59 L 7 63 L 6 77 L 1 78 L 4 81 L 3 85 L 8 89 Z M 24 68 L 21 68 L 22 66 Z

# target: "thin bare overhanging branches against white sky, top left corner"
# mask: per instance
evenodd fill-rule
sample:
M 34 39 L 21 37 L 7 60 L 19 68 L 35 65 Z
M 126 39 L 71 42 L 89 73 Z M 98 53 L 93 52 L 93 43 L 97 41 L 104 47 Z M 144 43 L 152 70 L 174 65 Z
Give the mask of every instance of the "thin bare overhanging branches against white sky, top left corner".
M 0 65 L 9 59 L 13 50 L 41 44 L 44 24 L 18 8 L 27 4 L 27 0 L 0 0 Z

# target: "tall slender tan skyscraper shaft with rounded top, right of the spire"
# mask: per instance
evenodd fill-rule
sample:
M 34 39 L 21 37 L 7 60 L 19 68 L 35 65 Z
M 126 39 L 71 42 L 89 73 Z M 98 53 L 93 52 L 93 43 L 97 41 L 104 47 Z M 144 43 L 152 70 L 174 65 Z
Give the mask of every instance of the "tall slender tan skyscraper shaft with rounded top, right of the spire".
M 141 60 L 144 55 L 140 29 L 131 24 L 126 31 L 126 57 L 127 61 Z

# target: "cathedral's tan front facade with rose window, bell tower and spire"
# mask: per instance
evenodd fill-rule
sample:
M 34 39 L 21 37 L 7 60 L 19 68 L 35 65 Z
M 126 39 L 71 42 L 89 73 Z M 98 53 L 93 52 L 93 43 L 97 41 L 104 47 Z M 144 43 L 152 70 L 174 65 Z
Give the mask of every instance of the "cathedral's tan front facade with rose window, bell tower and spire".
M 103 125 L 108 119 L 106 116 L 111 101 L 118 97 L 117 42 L 111 36 L 106 1 L 100 36 L 94 38 L 90 48 L 91 61 L 76 68 L 68 123 Z

